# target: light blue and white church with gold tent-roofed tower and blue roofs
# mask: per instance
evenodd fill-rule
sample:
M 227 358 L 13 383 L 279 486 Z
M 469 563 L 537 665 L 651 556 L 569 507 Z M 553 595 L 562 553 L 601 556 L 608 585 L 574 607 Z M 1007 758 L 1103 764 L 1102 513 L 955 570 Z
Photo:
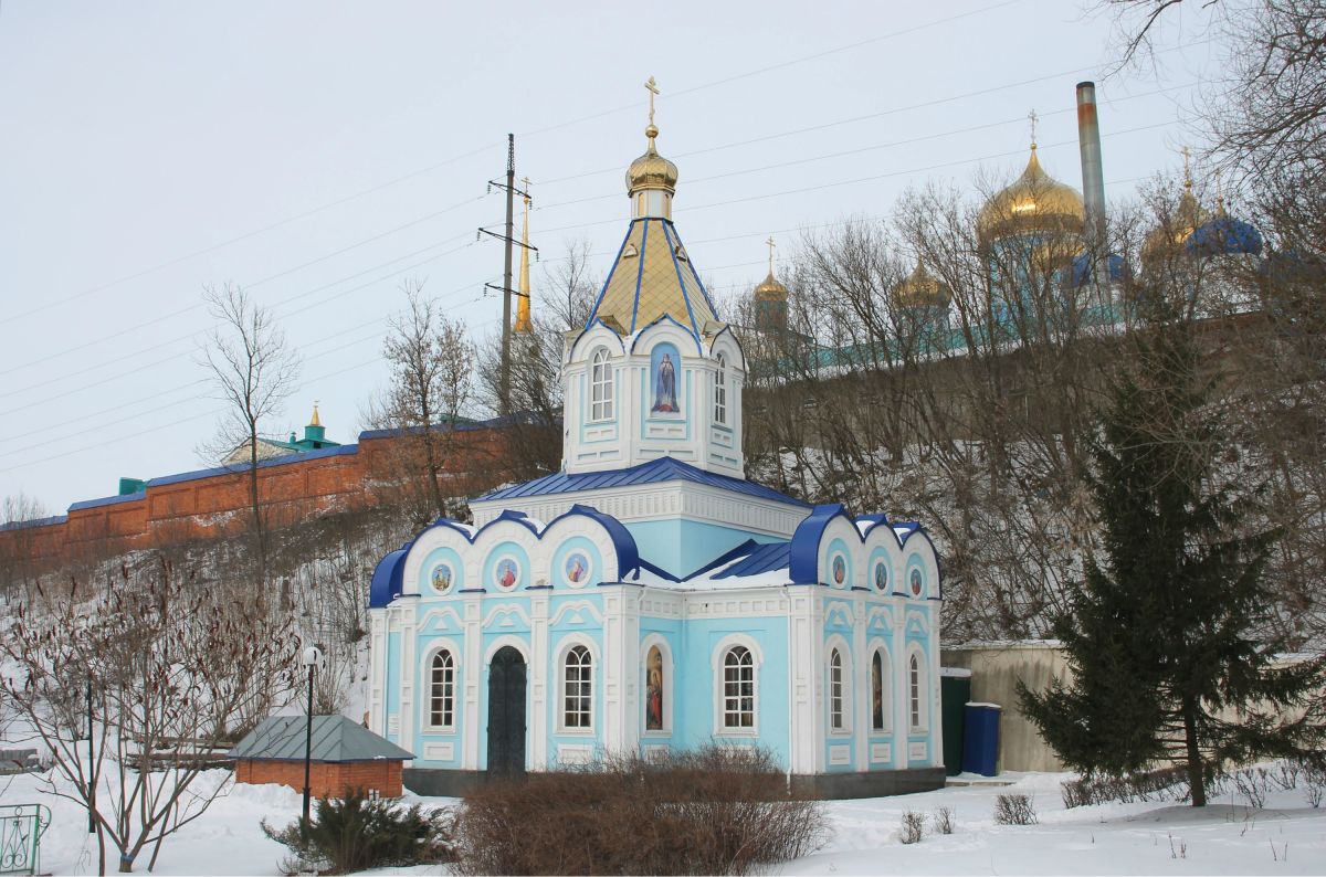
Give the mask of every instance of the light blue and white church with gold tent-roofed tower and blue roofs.
M 562 469 L 378 564 L 370 726 L 423 794 L 711 742 L 827 796 L 939 787 L 935 547 L 745 480 L 741 343 L 672 221 L 652 107 L 646 136 L 626 237 L 565 342 Z

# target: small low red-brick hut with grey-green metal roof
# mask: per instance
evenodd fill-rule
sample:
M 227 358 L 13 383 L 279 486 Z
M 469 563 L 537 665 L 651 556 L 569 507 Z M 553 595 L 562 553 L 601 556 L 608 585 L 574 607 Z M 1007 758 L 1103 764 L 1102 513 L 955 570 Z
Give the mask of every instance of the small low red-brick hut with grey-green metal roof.
M 273 715 L 235 748 L 236 783 L 280 783 L 304 791 L 305 715 Z M 314 798 L 345 798 L 355 788 L 400 796 L 400 768 L 414 754 L 345 715 L 314 715 L 309 788 Z

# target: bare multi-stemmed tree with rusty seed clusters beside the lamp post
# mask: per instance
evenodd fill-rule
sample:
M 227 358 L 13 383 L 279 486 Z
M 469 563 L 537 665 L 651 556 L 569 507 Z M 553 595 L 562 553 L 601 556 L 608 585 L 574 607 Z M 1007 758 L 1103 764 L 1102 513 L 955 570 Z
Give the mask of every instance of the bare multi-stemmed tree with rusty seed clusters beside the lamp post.
M 48 791 L 91 815 L 101 873 L 107 843 L 121 872 L 151 847 L 151 870 L 224 790 L 196 780 L 232 742 L 231 717 L 297 682 L 288 616 L 191 578 L 152 558 L 93 601 L 42 591 L 0 643 L 17 669 L 0 692 L 53 759 Z

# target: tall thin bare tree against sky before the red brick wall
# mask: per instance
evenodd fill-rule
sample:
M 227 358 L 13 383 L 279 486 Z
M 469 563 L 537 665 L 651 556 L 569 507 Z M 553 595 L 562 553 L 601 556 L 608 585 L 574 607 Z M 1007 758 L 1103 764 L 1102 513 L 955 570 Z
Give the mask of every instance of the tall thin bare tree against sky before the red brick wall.
M 261 427 L 294 389 L 300 360 L 268 309 L 239 286 L 227 284 L 204 293 L 212 317 L 220 321 L 202 350 L 202 363 L 227 409 L 210 449 L 213 456 L 248 452 L 248 494 L 257 556 L 259 600 L 268 584 L 268 521 L 259 495 Z

